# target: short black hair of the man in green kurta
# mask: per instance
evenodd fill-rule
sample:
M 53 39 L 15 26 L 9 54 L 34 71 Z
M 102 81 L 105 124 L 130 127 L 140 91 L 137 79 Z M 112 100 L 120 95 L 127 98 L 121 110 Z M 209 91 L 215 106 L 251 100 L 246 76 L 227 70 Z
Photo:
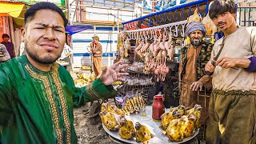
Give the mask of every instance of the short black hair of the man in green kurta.
M 31 6 L 28 10 L 26 10 L 25 25 L 27 22 L 30 22 L 34 18 L 34 14 L 36 14 L 38 10 L 53 10 L 57 12 L 58 14 L 61 15 L 64 22 L 64 26 L 66 27 L 68 20 L 66 19 L 64 13 L 62 12 L 62 9 L 56 6 L 52 2 L 38 2 L 38 3 L 35 3 L 33 6 Z

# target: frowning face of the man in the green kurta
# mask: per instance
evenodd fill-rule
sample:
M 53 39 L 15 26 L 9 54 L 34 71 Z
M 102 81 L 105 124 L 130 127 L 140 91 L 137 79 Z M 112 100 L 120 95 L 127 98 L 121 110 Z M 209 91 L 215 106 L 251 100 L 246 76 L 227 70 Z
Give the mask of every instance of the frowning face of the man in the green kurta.
M 30 58 L 41 64 L 51 64 L 62 54 L 66 42 L 62 17 L 53 10 L 38 10 L 26 23 L 24 42 Z

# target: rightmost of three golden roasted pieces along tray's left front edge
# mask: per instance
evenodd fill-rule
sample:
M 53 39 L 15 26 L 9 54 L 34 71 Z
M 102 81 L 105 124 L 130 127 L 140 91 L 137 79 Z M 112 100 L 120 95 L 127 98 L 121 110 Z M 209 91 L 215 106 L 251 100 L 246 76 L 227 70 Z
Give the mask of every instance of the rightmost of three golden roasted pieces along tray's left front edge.
M 150 133 L 150 130 L 146 126 L 141 125 L 139 122 L 135 124 L 136 134 L 135 138 L 137 142 L 142 142 L 144 144 L 149 143 L 151 138 L 154 138 L 154 134 Z

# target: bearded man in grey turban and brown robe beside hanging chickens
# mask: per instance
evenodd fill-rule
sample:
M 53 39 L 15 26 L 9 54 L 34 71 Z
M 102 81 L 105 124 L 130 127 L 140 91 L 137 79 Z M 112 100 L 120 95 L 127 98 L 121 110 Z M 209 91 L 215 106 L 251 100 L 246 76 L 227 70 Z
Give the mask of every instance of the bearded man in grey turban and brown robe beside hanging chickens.
M 213 45 L 203 41 L 206 28 L 202 22 L 190 22 L 186 26 L 186 35 L 190 38 L 190 45 L 182 48 L 179 62 L 179 90 L 181 92 L 179 103 L 189 107 L 201 104 L 203 107 L 202 124 L 204 124 L 207 119 L 208 102 L 204 98 L 198 98 L 198 90 L 206 86 L 206 92 L 210 95 L 211 77 L 205 75 L 203 69 L 210 60 Z

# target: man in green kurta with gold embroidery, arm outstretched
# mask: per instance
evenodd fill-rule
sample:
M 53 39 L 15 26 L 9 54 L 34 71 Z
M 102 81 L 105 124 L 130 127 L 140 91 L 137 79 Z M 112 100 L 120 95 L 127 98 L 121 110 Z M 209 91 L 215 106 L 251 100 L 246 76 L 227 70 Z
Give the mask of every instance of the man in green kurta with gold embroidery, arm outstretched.
M 0 132 L 2 143 L 77 143 L 73 106 L 114 97 L 110 84 L 123 81 L 118 62 L 102 70 L 90 86 L 77 88 L 55 61 L 65 44 L 67 20 L 50 2 L 25 14 L 26 55 L 0 65 Z

